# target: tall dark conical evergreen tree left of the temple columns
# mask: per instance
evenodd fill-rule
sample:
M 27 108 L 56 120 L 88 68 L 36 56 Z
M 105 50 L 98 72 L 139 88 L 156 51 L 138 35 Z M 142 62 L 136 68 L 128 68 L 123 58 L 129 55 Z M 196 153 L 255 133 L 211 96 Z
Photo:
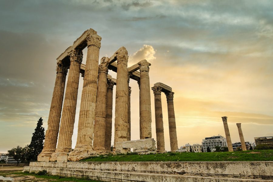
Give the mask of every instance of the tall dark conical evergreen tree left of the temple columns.
M 34 133 L 32 133 L 32 138 L 29 146 L 27 147 L 27 161 L 35 161 L 39 153 L 42 152 L 45 140 L 45 128 L 42 127 L 43 120 L 42 118 L 37 121 L 37 126 Z

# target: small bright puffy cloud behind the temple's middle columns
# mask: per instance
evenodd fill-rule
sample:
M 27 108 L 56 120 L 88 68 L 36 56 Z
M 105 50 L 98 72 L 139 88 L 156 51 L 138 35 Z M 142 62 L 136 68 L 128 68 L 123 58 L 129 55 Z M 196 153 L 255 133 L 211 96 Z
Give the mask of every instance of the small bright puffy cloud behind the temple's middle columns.
M 152 45 L 143 45 L 142 48 L 129 56 L 129 64 L 136 64 L 143 59 L 146 59 L 148 62 L 153 62 L 153 60 L 156 59 L 154 56 L 156 51 Z

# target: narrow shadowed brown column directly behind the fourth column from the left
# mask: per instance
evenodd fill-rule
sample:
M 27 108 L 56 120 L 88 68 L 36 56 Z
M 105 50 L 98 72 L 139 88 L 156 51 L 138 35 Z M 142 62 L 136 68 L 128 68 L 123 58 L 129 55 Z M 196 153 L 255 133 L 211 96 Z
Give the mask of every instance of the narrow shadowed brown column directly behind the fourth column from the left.
M 105 150 L 109 152 L 111 151 L 111 137 L 112 137 L 113 87 L 114 87 L 114 82 L 110 79 L 107 79 Z

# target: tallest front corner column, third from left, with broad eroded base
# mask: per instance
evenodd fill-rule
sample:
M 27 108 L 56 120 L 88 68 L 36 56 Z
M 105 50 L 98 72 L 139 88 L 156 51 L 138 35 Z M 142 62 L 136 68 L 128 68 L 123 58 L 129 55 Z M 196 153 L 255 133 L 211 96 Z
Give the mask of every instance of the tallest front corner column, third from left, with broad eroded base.
M 93 132 L 96 111 L 97 80 L 99 70 L 99 49 L 101 37 L 88 34 L 86 67 L 83 78 L 83 91 L 79 111 L 77 143 L 74 151 L 69 153 L 69 160 L 80 160 L 93 152 Z

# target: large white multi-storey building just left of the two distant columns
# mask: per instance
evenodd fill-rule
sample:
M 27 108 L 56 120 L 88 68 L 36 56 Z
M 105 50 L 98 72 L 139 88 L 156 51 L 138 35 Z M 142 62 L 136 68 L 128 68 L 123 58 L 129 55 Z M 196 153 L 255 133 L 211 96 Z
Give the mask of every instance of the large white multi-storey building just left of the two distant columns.
M 211 136 L 202 140 L 203 150 L 207 152 L 207 147 L 210 147 L 211 151 L 214 151 L 214 147 L 227 147 L 227 139 L 224 136 Z

